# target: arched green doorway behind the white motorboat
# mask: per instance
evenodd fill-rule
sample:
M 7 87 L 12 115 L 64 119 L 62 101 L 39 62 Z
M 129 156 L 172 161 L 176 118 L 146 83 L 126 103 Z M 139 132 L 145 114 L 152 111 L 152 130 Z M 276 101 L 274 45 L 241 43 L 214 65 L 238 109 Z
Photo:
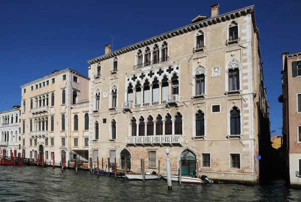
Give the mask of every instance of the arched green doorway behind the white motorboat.
M 197 173 L 197 158 L 196 155 L 189 149 L 181 153 L 182 174 L 196 175 Z

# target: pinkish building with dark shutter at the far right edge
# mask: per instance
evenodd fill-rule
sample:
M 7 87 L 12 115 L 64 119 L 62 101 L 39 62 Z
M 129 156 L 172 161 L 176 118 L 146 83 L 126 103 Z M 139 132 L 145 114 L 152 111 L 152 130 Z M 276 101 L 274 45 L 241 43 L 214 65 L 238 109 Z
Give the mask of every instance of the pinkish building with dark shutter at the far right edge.
M 301 52 L 282 53 L 282 114 L 288 181 L 301 185 Z

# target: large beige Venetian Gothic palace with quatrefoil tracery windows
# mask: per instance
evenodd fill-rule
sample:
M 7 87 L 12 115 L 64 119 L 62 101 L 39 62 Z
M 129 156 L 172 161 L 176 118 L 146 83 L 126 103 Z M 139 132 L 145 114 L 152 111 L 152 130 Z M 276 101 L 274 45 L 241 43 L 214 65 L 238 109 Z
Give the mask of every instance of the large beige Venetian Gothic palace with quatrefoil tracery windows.
M 120 168 L 257 181 L 260 113 L 268 118 L 254 6 L 211 17 L 88 62 L 89 155 Z M 269 134 L 268 135 L 269 138 Z M 197 170 L 198 169 L 198 170 Z

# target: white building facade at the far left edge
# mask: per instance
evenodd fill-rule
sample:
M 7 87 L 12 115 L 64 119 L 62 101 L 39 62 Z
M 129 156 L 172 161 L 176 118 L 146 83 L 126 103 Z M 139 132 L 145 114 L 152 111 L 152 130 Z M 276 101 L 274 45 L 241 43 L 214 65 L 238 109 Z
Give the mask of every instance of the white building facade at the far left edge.
M 0 111 L 0 156 L 11 156 L 14 152 L 17 155 L 17 152 L 21 152 L 18 145 L 20 105 L 14 105 L 13 108 Z

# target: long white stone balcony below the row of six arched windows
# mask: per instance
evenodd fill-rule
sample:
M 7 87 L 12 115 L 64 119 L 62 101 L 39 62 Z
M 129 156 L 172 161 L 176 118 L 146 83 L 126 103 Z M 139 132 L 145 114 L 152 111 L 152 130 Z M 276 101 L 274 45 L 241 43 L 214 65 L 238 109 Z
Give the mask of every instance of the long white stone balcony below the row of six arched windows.
M 127 136 L 125 137 L 125 143 L 127 144 L 183 144 L 182 134 L 168 134 L 168 135 L 146 135 L 146 136 Z

